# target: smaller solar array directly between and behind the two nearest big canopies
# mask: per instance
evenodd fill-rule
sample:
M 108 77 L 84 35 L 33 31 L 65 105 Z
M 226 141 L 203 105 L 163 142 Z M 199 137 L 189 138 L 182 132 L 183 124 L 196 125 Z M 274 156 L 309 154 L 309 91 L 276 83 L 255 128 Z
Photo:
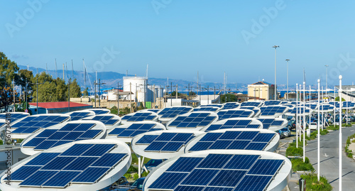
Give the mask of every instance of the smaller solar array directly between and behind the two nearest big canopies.
M 148 144 L 144 151 L 177 152 L 194 138 L 193 133 L 161 133 L 160 135 L 144 135 L 136 144 Z

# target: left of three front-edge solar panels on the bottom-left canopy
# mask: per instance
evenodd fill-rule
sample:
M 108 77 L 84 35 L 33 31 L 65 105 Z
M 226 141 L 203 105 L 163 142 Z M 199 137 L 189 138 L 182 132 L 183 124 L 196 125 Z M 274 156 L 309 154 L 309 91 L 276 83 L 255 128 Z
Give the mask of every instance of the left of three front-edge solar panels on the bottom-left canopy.
M 29 178 L 20 183 L 20 185 L 26 186 L 40 186 L 44 182 L 47 182 L 48 179 L 52 178 L 58 171 L 48 171 L 48 170 L 38 170 Z

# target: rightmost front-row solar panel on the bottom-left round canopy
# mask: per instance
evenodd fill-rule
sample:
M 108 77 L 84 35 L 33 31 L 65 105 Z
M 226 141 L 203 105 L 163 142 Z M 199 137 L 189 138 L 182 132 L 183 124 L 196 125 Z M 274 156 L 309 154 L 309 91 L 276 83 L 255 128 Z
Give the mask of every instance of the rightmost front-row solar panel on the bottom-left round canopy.
M 97 182 L 102 176 L 107 173 L 110 168 L 96 168 L 96 167 L 89 167 L 84 170 L 80 175 L 77 176 L 72 182 L 84 182 L 84 183 L 94 183 Z

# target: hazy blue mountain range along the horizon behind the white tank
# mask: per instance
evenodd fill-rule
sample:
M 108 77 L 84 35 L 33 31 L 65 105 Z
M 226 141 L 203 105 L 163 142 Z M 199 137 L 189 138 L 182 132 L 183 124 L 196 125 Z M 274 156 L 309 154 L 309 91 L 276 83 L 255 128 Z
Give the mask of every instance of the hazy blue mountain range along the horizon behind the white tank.
M 18 67 L 20 67 L 20 70 L 27 69 L 27 66 L 25 66 L 25 65 L 18 65 Z M 32 70 L 33 75 L 36 75 L 37 73 L 40 73 L 40 72 L 46 72 L 45 69 L 43 69 L 43 68 L 35 68 L 35 67 L 28 67 L 28 70 Z M 49 75 L 52 75 L 53 78 L 55 78 L 55 77 L 63 78 L 63 70 L 57 70 L 57 72 L 55 72 L 55 70 L 48 70 L 47 72 Z M 74 75 L 74 77 L 72 77 L 72 75 Z M 123 84 L 123 77 L 125 77 L 125 76 L 126 75 L 120 74 L 118 72 L 97 72 L 97 79 L 100 79 L 101 83 L 105 83 L 105 84 L 102 84 L 102 86 L 101 86 L 102 89 L 112 88 L 112 87 L 116 88 L 117 82 L 119 82 L 119 84 Z M 128 75 L 128 76 L 133 77 L 134 75 Z M 82 89 L 84 89 L 84 87 L 89 87 L 89 89 L 94 88 L 93 83 L 94 83 L 94 80 L 96 77 L 95 72 L 87 72 L 85 83 L 84 83 L 84 72 L 83 71 L 77 71 L 77 70 L 65 71 L 64 78 L 68 79 L 70 77 L 77 79 L 77 83 L 80 85 L 80 87 L 82 87 Z M 192 82 L 192 81 L 187 81 L 187 80 L 169 79 L 168 85 L 170 85 L 170 82 L 173 82 L 174 86 L 176 84 L 178 84 L 179 91 L 186 91 L 186 92 L 187 92 L 187 88 L 185 88 L 185 87 L 188 87 L 189 84 L 190 84 L 190 86 L 194 86 L 194 87 L 197 85 L 197 82 Z M 165 87 L 167 85 L 167 79 L 149 77 L 148 84 L 155 84 L 155 86 Z M 199 82 L 199 84 L 201 84 L 201 87 L 204 87 L 204 88 L 207 88 L 207 86 L 209 86 L 209 88 L 216 87 L 216 89 L 218 89 L 219 87 L 222 89 L 222 87 L 224 86 L 223 83 L 214 83 L 214 82 Z M 239 92 L 243 92 L 243 91 L 247 90 L 248 84 L 235 84 L 235 83 L 226 84 L 226 89 L 230 89 L 230 91 L 233 91 L 233 92 L 236 91 L 235 90 L 236 87 L 238 87 Z M 283 85 L 283 84 L 278 85 L 278 87 L 279 87 L 278 89 L 280 89 L 280 88 L 285 89 L 285 88 L 283 88 L 283 87 L 285 87 L 285 85 Z M 290 87 L 290 89 L 291 88 L 292 87 Z

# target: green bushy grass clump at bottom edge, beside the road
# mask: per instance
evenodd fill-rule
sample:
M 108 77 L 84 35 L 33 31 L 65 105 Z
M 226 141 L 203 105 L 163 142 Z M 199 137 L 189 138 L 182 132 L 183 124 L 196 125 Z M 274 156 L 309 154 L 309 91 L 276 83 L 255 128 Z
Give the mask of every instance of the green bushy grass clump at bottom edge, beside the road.
M 333 190 L 332 185 L 329 184 L 327 178 L 324 176 L 320 177 L 320 181 L 318 182 L 317 174 L 315 173 L 307 173 L 301 175 L 301 178 L 306 180 L 306 190 L 322 190 L 322 191 L 330 191 Z

